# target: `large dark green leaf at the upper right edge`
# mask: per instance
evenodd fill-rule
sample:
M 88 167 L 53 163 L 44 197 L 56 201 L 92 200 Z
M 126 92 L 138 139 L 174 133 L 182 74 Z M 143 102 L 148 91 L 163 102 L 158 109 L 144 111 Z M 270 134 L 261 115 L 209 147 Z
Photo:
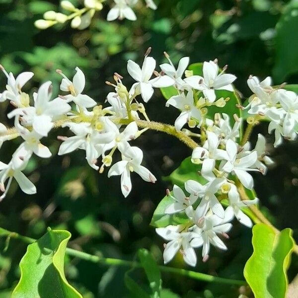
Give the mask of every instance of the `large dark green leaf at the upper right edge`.
M 292 0 L 276 24 L 276 57 L 273 75 L 282 82 L 289 74 L 298 72 L 298 1 Z

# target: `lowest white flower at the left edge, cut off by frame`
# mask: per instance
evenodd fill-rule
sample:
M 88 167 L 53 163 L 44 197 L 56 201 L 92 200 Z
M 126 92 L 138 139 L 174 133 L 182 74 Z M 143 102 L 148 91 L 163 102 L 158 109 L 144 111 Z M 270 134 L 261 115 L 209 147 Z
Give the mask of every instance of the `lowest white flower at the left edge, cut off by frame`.
M 36 187 L 34 184 L 21 172 L 25 166 L 26 164 L 23 165 L 22 168 L 14 168 L 12 162 L 9 162 L 8 164 L 0 162 L 0 190 L 3 192 L 3 194 L 0 196 L 0 201 L 5 198 L 12 178 L 16 180 L 24 193 L 28 195 L 36 193 Z M 5 187 L 4 183 L 7 179 L 8 182 Z

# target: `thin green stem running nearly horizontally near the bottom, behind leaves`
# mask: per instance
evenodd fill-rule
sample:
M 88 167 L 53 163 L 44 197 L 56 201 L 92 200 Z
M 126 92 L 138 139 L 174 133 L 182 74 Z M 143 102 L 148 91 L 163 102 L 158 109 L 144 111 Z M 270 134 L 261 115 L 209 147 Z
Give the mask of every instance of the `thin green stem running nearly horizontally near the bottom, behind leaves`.
M 8 231 L 6 229 L 0 228 L 0 236 L 6 236 L 10 238 L 19 239 L 25 243 L 31 244 L 36 241 L 36 239 L 20 235 L 15 232 Z M 127 261 L 127 260 L 121 260 L 121 259 L 114 259 L 114 258 L 103 258 L 96 255 L 91 255 L 89 253 L 75 250 L 72 248 L 67 248 L 66 253 L 70 256 L 92 262 L 92 263 L 100 263 L 107 266 L 124 266 L 124 267 L 142 267 L 141 263 L 135 262 L 135 261 Z M 220 283 L 220 284 L 227 284 L 227 285 L 246 285 L 245 281 L 240 280 L 234 280 L 234 279 L 227 279 L 227 278 L 221 278 L 216 277 L 200 272 L 195 272 L 191 270 L 185 270 L 185 269 L 179 269 L 179 268 L 173 268 L 173 267 L 167 267 L 167 266 L 158 266 L 160 271 L 162 272 L 168 272 L 168 273 L 174 273 L 182 276 L 186 276 L 195 280 L 205 281 L 205 282 L 214 282 L 214 283 Z

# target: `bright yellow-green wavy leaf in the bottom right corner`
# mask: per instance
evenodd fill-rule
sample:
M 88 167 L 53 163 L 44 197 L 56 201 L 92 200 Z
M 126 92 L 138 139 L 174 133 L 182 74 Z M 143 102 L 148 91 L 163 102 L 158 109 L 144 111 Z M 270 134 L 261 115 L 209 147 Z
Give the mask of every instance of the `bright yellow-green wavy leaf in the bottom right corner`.
M 276 233 L 266 224 L 252 228 L 253 254 L 244 267 L 244 277 L 256 298 L 284 298 L 287 269 L 295 242 L 292 230 Z

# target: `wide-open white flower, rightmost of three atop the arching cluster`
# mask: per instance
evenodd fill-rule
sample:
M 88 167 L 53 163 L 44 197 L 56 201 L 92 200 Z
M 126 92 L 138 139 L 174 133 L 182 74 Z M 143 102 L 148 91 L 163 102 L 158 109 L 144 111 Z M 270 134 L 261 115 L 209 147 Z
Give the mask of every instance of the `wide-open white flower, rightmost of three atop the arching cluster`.
M 236 79 L 233 74 L 223 74 L 219 72 L 219 66 L 213 61 L 204 62 L 203 64 L 203 75 L 192 75 L 184 79 L 192 88 L 202 90 L 204 96 L 209 102 L 214 102 L 216 94 L 214 90 L 228 90 L 233 91 L 231 83 Z

